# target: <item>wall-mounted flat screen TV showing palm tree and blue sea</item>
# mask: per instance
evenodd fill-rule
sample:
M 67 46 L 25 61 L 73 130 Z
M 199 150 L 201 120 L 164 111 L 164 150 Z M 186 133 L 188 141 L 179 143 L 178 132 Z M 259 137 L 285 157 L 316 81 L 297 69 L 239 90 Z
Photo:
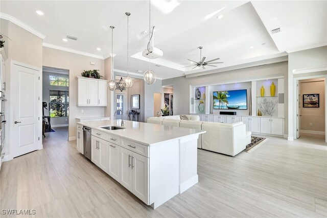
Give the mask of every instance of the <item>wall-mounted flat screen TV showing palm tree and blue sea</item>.
M 247 110 L 246 90 L 213 92 L 214 109 Z

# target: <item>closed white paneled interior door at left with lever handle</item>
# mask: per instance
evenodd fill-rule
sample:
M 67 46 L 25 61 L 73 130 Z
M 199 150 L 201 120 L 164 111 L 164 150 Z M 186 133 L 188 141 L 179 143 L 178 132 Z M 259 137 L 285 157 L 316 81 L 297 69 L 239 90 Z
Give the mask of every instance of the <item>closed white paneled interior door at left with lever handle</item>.
M 39 148 L 40 71 L 12 64 L 11 111 L 13 157 Z

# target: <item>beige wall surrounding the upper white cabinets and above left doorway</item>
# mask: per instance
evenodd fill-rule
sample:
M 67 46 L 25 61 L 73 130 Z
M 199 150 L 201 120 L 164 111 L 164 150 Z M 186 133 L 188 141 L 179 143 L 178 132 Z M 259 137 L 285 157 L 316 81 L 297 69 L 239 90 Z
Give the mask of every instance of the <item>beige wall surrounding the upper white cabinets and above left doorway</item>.
M 95 62 L 91 65 L 90 62 Z M 43 47 L 43 66 L 69 70 L 69 138 L 76 137 L 76 117 L 102 117 L 105 107 L 78 107 L 77 76 L 83 70 L 100 70 L 104 76 L 104 60 Z M 107 79 L 107 78 L 106 78 Z M 84 113 L 81 112 L 84 111 Z

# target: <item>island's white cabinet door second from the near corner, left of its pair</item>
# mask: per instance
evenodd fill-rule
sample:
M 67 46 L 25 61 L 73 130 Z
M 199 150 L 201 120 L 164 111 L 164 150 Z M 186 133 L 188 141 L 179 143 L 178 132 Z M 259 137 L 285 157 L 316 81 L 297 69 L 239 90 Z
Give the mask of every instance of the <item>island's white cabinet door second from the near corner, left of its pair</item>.
M 123 147 L 120 150 L 120 183 L 129 191 L 133 191 L 133 172 L 131 168 L 133 152 Z

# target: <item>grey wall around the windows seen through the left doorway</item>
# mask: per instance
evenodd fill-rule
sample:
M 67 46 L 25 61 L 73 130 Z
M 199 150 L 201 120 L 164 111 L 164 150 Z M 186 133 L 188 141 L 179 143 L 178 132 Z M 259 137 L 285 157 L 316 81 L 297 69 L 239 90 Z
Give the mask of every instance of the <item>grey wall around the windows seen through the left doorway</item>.
M 50 73 L 43 71 L 43 79 L 42 79 L 42 101 L 46 102 L 48 106 L 48 110 L 44 108 L 44 116 L 50 116 L 50 90 L 64 90 L 69 91 L 68 86 L 57 86 L 57 85 L 50 85 L 49 76 L 60 76 L 69 78 L 67 74 L 59 74 L 59 73 Z M 52 117 L 51 118 L 51 126 L 58 126 L 58 125 L 68 125 L 68 117 Z

